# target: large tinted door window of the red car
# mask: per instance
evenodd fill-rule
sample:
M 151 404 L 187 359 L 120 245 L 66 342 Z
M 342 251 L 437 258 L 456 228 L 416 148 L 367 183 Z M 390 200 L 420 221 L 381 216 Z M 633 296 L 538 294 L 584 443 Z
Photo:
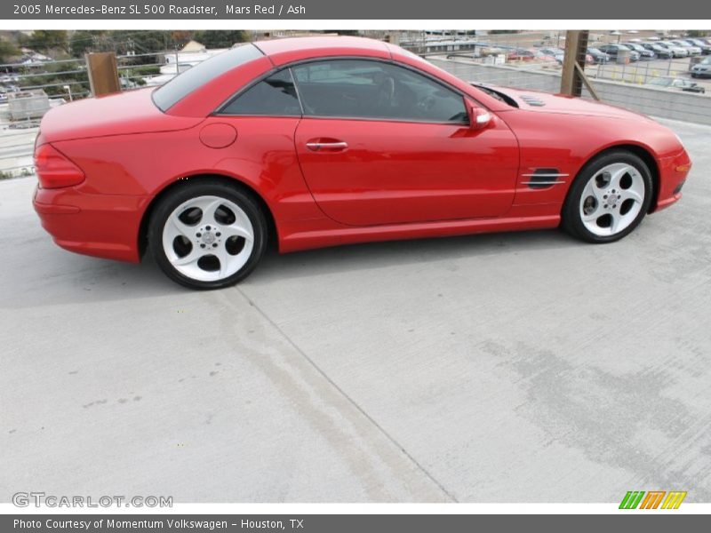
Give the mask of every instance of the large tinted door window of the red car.
M 305 115 L 467 123 L 464 98 L 408 68 L 324 60 L 292 68 Z

